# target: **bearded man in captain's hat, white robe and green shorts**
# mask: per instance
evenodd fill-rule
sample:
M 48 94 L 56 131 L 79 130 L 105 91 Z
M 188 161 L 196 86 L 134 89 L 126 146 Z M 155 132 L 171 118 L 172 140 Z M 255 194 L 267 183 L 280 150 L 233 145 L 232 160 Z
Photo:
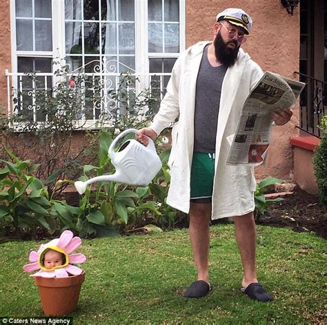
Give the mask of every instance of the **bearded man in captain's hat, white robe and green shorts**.
M 178 116 L 172 129 L 171 182 L 168 205 L 189 213 L 189 235 L 197 280 L 185 297 L 204 297 L 211 289 L 208 273 L 209 225 L 233 217 L 243 280 L 241 291 L 259 302 L 273 298 L 257 280 L 253 167 L 226 165 L 230 141 L 241 109 L 263 75 L 241 49 L 252 27 L 244 10 L 228 8 L 217 14 L 213 41 L 197 43 L 177 59 L 159 112 L 137 139 L 146 145 Z M 276 125 L 290 120 L 289 109 L 278 110 Z

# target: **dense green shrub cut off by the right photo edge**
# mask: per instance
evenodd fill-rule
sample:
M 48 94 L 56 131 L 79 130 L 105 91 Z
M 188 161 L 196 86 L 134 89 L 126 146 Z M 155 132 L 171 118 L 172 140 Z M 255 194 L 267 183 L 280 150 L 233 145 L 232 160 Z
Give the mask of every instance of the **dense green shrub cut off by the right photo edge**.
M 321 119 L 322 138 L 315 149 L 313 164 L 318 185 L 319 202 L 327 205 L 327 115 Z

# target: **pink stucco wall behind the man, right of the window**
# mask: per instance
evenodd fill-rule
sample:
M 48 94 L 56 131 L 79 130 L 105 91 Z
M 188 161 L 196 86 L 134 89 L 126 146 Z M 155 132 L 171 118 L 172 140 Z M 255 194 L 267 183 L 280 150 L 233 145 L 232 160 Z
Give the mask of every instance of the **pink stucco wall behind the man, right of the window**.
M 186 46 L 197 41 L 212 40 L 215 16 L 222 10 L 242 8 L 252 17 L 253 27 L 243 48 L 261 68 L 288 78 L 299 71 L 299 8 L 290 16 L 280 1 L 186 1 Z M 293 178 L 293 150 L 288 143 L 299 132 L 299 107 L 290 123 L 273 128 L 273 140 L 266 165 L 256 168 L 257 178 L 278 176 Z

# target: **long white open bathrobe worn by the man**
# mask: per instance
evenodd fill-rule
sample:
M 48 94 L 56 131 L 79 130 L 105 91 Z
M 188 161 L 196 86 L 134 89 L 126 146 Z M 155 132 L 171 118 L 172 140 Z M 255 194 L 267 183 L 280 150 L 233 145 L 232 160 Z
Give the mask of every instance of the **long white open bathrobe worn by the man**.
M 172 129 L 171 173 L 167 204 L 180 211 L 190 210 L 190 168 L 194 142 L 195 87 L 206 44 L 197 43 L 177 59 L 159 112 L 150 127 L 157 133 L 178 118 Z M 253 167 L 226 165 L 230 141 L 235 134 L 241 108 L 250 90 L 261 78 L 259 65 L 241 48 L 235 65 L 229 67 L 221 87 L 215 151 L 215 179 L 212 219 L 242 216 L 255 209 L 256 187 Z M 206 132 L 206 130 L 204 130 Z

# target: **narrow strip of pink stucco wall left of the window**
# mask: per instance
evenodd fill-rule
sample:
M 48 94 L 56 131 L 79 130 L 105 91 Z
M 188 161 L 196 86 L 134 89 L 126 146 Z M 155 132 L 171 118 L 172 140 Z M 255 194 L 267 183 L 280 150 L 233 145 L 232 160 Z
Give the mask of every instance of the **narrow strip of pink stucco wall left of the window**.
M 0 0 L 0 115 L 7 112 L 7 81 L 5 70 L 11 70 L 10 0 Z

